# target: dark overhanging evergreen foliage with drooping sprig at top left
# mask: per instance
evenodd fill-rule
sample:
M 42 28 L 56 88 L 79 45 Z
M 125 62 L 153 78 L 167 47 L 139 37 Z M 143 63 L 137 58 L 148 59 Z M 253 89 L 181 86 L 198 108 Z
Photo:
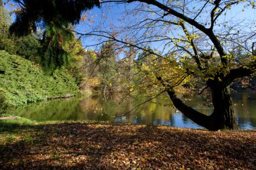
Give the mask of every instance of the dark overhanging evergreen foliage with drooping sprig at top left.
M 69 62 L 64 42 L 72 40 L 70 24 L 78 24 L 82 12 L 100 7 L 98 0 L 13 0 L 18 4 L 15 22 L 9 30 L 17 36 L 44 31 L 42 36 L 42 65 L 46 71 Z

